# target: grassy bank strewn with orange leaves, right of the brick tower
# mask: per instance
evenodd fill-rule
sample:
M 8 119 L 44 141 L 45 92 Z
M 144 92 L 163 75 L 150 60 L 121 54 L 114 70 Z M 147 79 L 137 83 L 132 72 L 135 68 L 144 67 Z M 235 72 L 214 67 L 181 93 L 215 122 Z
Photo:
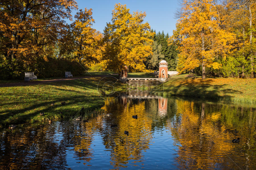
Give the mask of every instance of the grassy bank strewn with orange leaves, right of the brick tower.
M 189 75 L 164 83 L 166 96 L 199 97 L 219 101 L 256 103 L 256 79 L 206 78 Z

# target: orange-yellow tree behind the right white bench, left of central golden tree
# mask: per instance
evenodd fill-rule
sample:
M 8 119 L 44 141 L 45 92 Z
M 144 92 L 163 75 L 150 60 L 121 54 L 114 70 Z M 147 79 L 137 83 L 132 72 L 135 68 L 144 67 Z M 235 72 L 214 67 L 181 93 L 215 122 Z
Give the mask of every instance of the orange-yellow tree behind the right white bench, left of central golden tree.
M 63 38 L 60 40 L 61 55 L 72 53 L 72 58 L 89 66 L 97 59 L 102 58 L 100 43 L 103 35 L 92 28 L 94 19 L 92 9 L 79 10 L 75 21 L 64 29 Z

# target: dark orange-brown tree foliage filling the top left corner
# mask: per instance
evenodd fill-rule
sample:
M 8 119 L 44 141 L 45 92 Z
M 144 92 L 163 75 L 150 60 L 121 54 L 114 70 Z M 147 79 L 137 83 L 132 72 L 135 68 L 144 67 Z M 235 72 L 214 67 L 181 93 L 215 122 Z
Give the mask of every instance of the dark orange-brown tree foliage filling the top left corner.
M 6 58 L 38 56 L 51 49 L 76 4 L 74 0 L 1 1 L 0 36 Z

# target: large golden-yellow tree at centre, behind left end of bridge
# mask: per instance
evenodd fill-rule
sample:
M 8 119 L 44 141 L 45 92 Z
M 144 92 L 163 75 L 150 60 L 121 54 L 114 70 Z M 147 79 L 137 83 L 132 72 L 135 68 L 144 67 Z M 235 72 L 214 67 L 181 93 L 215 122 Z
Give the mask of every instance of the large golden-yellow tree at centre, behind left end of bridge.
M 112 22 L 104 29 L 105 67 L 120 72 L 123 66 L 129 70 L 144 71 L 146 57 L 152 54 L 151 44 L 154 33 L 150 25 L 143 24 L 145 12 L 130 13 L 126 5 L 120 3 L 112 10 Z

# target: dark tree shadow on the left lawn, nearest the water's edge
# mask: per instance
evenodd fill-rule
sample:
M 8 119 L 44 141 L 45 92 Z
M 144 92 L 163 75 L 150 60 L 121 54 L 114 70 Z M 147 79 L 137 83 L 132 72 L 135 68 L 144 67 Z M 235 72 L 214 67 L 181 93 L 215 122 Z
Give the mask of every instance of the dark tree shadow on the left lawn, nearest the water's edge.
M 100 103 L 99 98 L 95 101 L 92 101 L 92 99 L 95 98 L 84 95 L 73 95 L 69 98 L 55 98 L 55 105 L 53 106 L 51 106 L 51 102 L 40 102 L 38 104 L 30 105 L 28 107 L 23 107 L 22 109 L 4 110 L 0 113 L 0 124 L 20 124 L 30 121 L 38 122 L 46 121 L 47 119 L 59 119 L 61 117 L 70 118 L 71 116 L 79 113 L 83 106 L 87 111 L 92 111 L 103 105 L 103 102 Z M 61 105 L 59 101 L 69 102 L 66 102 L 66 105 Z M 36 109 L 41 107 L 42 109 Z M 44 112 L 45 115 L 39 116 L 40 112 Z M 63 112 L 63 114 L 59 114 L 59 112 Z M 36 116 L 39 117 L 37 118 Z

